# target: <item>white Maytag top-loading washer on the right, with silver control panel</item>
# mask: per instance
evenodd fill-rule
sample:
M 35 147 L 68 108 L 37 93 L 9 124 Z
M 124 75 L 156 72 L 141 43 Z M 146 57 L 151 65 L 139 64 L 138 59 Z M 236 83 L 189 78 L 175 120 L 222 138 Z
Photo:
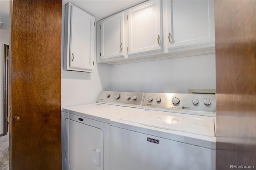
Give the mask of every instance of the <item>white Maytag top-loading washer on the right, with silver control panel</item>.
M 146 93 L 143 108 L 110 120 L 111 170 L 215 169 L 215 95 Z

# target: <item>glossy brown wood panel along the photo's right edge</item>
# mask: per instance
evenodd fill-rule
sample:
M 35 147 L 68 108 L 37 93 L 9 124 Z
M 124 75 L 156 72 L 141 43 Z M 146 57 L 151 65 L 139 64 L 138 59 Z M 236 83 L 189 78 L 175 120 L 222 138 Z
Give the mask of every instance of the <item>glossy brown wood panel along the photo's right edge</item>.
M 256 1 L 214 1 L 216 169 L 256 167 Z

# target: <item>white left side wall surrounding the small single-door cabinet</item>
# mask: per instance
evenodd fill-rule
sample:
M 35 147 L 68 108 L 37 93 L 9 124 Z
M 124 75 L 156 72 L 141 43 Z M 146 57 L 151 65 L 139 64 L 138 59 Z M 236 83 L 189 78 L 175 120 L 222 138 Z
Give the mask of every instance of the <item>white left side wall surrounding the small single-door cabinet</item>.
M 62 2 L 62 16 L 64 16 L 66 2 Z M 61 107 L 95 103 L 100 91 L 109 89 L 110 66 L 96 63 L 96 28 L 95 28 L 95 56 L 92 73 L 63 70 L 64 47 L 64 17 L 62 17 L 62 64 L 61 64 Z

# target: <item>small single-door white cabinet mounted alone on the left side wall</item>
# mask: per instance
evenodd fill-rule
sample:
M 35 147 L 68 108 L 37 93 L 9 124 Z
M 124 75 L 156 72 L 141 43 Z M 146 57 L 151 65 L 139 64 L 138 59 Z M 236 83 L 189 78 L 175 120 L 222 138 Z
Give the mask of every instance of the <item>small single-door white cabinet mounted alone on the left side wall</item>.
M 65 70 L 92 72 L 94 25 L 94 16 L 70 2 L 65 5 Z

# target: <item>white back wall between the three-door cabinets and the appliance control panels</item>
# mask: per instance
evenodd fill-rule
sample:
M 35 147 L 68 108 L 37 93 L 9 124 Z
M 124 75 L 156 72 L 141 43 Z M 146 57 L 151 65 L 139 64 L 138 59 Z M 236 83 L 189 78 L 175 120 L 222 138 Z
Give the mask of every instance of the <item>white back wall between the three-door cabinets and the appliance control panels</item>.
M 113 65 L 113 91 L 188 93 L 216 89 L 215 54 Z

